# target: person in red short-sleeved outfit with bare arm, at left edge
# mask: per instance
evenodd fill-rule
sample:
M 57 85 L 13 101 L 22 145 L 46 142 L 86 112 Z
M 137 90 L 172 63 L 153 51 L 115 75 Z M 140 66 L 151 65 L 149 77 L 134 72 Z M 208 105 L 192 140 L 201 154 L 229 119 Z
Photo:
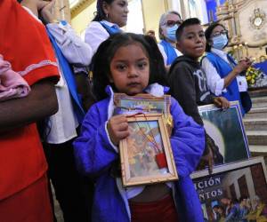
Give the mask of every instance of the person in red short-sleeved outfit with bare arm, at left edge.
M 15 0 L 0 1 L 0 29 L 0 54 L 31 87 L 26 98 L 0 102 L 0 220 L 53 221 L 35 123 L 57 111 L 53 49 L 42 23 Z

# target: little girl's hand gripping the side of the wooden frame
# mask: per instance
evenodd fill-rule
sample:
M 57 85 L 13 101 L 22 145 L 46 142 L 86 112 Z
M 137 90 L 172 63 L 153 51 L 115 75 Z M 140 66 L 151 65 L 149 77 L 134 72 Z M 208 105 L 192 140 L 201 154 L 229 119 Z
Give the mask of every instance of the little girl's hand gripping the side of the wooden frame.
M 128 122 L 125 115 L 115 115 L 108 122 L 109 138 L 114 145 L 118 145 L 119 140 L 125 139 L 130 135 Z

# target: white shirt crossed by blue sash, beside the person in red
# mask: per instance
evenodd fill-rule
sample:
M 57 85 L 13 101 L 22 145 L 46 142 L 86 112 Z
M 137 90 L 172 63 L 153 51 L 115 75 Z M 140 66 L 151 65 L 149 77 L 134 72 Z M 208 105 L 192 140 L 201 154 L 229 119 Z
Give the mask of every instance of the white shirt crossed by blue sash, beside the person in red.
M 88 65 L 93 57 L 93 50 L 85 44 L 75 31 L 66 24 L 48 24 L 47 28 L 53 34 L 62 54 L 69 63 L 76 63 L 81 66 Z M 61 80 L 55 85 L 59 110 L 55 115 L 50 116 L 50 133 L 47 143 L 61 144 L 77 137 L 77 116 L 74 112 L 72 99 L 68 84 L 62 75 L 59 66 Z

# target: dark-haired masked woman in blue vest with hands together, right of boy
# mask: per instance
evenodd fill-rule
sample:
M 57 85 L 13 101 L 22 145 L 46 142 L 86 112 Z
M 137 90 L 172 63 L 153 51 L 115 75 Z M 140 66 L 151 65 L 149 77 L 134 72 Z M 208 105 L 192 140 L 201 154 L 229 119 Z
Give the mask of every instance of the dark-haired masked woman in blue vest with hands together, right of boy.
M 235 61 L 223 49 L 229 42 L 228 31 L 220 23 L 213 23 L 205 32 L 206 57 L 201 61 L 206 72 L 207 85 L 216 96 L 229 101 L 239 100 L 242 115 L 251 108 L 251 99 L 247 93 L 247 80 L 242 76 L 251 66 L 248 58 Z

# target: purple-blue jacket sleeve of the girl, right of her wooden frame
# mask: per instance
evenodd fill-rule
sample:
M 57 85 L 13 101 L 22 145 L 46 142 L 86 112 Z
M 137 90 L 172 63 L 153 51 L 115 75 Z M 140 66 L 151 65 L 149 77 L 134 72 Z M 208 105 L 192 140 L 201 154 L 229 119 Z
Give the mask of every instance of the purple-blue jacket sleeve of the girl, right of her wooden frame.
M 174 162 L 179 176 L 189 176 L 199 163 L 205 147 L 204 128 L 185 115 L 182 107 L 172 99 L 171 114 L 174 119 L 174 129 L 171 146 Z

